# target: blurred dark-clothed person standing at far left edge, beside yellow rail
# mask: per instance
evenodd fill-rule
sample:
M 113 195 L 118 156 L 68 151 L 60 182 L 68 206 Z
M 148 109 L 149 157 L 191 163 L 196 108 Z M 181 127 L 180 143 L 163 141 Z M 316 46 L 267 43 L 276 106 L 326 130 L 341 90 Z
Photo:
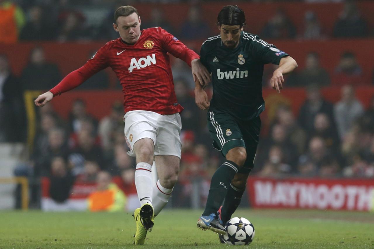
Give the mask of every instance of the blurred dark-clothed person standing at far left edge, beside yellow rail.
M 5 54 L 0 54 L 0 142 L 26 139 L 24 91 Z

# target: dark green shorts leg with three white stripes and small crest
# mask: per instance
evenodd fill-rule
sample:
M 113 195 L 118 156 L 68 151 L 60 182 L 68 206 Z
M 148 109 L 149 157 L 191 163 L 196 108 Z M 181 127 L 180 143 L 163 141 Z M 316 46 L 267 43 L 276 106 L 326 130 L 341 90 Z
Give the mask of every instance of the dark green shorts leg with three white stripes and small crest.
M 229 114 L 208 111 L 208 129 L 213 139 L 213 148 L 221 151 L 223 156 L 235 147 L 244 147 L 242 132 L 236 120 Z

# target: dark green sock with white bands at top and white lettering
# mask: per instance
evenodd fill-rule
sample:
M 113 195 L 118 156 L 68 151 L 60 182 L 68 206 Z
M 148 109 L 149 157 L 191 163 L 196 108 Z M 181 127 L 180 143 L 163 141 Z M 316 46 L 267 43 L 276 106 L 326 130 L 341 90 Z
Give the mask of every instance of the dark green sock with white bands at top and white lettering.
M 217 213 L 238 169 L 239 166 L 236 163 L 226 161 L 214 172 L 203 216 Z

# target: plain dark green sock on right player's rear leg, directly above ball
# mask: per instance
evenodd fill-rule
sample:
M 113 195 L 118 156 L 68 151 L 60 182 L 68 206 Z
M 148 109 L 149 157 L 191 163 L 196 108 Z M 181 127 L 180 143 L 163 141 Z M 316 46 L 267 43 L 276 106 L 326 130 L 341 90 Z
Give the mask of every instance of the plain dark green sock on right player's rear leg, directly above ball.
M 229 185 L 229 189 L 227 190 L 226 197 L 221 209 L 221 219 L 223 221 L 223 224 L 231 219 L 231 215 L 235 212 L 240 204 L 240 201 L 242 200 L 244 190 L 245 188 L 240 190 L 234 187 L 232 184 Z

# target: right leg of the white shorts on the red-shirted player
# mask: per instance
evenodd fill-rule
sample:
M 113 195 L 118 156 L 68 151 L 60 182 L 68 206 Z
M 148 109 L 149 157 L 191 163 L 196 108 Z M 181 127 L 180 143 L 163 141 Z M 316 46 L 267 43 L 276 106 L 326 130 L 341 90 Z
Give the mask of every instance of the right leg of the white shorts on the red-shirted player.
M 179 113 L 162 115 L 157 122 L 154 155 L 169 155 L 181 158 L 181 129 L 182 121 Z

